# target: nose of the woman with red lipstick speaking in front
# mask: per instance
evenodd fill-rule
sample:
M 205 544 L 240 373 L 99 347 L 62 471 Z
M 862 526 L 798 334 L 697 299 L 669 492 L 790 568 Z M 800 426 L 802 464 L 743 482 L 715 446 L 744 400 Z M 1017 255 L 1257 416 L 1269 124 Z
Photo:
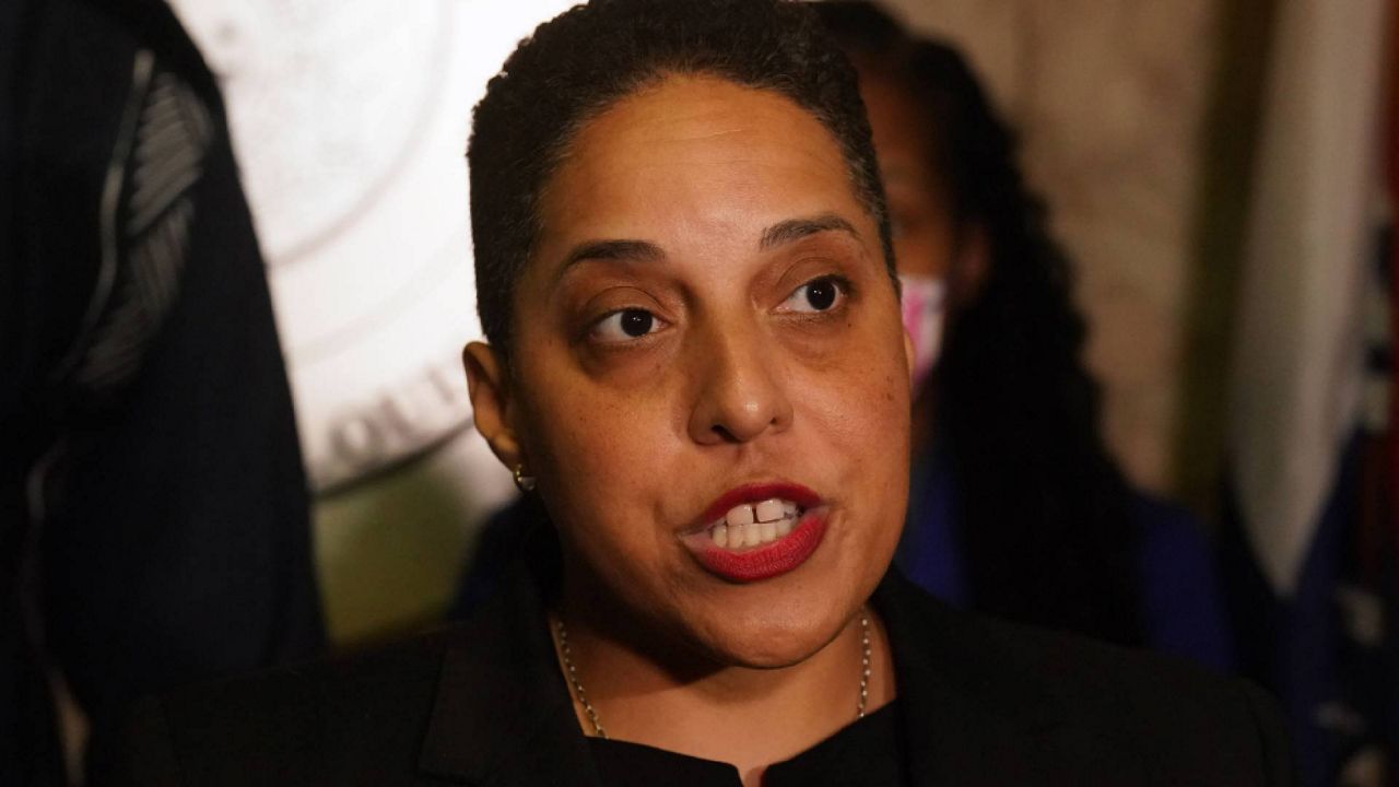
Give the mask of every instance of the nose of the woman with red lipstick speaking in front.
M 792 423 L 781 357 L 757 326 L 715 328 L 697 347 L 690 436 L 702 445 L 743 444 Z

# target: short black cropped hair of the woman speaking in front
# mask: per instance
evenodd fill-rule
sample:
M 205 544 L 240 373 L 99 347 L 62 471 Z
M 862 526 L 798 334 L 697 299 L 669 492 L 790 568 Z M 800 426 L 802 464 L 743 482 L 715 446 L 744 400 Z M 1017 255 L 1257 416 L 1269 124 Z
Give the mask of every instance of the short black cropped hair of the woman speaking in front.
M 592 0 L 522 41 L 476 106 L 467 146 L 476 297 L 481 328 L 504 358 L 548 178 L 585 123 L 672 74 L 768 90 L 810 112 L 835 137 L 894 276 L 856 76 L 809 8 L 788 0 Z

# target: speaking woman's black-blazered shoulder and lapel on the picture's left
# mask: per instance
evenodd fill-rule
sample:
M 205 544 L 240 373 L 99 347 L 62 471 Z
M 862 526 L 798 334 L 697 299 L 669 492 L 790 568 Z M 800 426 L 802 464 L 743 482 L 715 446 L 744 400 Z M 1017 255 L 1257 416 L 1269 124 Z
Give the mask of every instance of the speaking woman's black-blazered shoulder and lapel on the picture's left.
M 560 783 L 586 742 L 541 592 L 516 573 L 457 626 L 145 700 L 118 783 L 388 787 L 504 772 Z

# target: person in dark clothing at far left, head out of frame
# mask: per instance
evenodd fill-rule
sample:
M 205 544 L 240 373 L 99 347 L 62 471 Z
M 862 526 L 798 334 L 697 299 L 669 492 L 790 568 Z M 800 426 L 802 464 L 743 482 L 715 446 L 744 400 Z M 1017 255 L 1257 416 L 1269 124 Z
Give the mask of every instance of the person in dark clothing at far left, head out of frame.
M 0 784 L 136 697 L 323 643 L 306 483 L 213 74 L 166 3 L 0 4 Z

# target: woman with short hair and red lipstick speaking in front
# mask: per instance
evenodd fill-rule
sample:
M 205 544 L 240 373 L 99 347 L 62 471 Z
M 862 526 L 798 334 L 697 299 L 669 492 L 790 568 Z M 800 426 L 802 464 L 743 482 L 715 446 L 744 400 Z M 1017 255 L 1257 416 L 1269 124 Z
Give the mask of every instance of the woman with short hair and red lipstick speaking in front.
M 596 0 L 476 112 L 477 426 L 547 529 L 466 626 L 187 692 L 143 784 L 1287 783 L 1255 690 L 886 576 L 909 351 L 809 10 Z

